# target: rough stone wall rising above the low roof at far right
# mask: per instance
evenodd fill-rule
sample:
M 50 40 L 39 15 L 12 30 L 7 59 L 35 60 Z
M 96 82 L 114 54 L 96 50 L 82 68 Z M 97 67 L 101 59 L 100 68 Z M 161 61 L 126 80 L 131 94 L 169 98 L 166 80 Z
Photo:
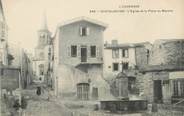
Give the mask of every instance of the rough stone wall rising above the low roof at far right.
M 150 65 L 183 65 L 183 49 L 184 40 L 157 40 L 152 48 Z

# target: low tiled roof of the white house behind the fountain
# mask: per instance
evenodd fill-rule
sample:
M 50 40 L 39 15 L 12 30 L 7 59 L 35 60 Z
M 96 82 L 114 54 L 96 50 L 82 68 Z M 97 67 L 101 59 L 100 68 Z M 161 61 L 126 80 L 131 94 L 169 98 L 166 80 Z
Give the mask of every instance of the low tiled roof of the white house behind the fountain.
M 124 44 L 106 44 L 105 49 L 112 49 L 112 48 L 135 48 L 135 47 L 143 47 L 146 44 L 150 44 L 149 42 L 142 42 L 142 43 L 124 43 Z

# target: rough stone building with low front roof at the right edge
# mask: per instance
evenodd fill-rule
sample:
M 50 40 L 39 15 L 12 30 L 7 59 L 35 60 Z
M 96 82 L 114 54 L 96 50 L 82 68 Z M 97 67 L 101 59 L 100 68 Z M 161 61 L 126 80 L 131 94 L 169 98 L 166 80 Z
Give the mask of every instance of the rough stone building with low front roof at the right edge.
M 177 103 L 183 100 L 183 48 L 184 39 L 157 40 L 153 44 L 150 64 L 139 75 L 140 90 L 149 102 Z

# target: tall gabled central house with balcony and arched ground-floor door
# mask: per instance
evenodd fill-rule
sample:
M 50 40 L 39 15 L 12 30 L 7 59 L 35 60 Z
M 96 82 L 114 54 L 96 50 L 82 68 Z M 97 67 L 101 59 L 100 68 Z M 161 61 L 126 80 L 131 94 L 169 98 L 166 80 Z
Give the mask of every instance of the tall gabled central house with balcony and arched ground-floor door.
M 75 18 L 57 27 L 54 72 L 58 95 L 70 92 L 78 98 L 87 95 L 84 97 L 87 99 L 105 95 L 101 90 L 106 83 L 103 80 L 103 32 L 106 27 L 106 24 L 87 17 Z M 80 93 L 86 92 L 80 88 L 86 88 L 88 94 Z

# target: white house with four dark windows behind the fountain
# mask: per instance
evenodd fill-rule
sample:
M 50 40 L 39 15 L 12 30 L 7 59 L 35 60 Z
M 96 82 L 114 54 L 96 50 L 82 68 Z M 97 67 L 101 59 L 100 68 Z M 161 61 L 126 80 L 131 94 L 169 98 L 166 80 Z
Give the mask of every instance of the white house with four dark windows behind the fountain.
M 104 78 L 111 82 L 120 72 L 128 76 L 130 94 L 138 93 L 139 69 L 148 65 L 152 45 L 149 42 L 120 44 L 117 40 L 105 43 Z

